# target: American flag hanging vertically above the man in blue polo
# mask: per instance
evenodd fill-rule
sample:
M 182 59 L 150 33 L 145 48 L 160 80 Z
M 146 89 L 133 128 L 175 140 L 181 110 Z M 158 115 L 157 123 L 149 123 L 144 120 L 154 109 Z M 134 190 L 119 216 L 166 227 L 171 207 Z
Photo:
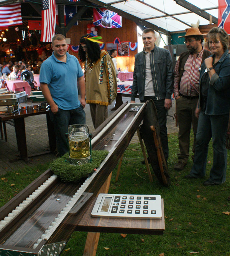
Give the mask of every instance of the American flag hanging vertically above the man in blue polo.
M 51 42 L 55 34 L 56 7 L 55 0 L 42 1 L 41 41 Z

